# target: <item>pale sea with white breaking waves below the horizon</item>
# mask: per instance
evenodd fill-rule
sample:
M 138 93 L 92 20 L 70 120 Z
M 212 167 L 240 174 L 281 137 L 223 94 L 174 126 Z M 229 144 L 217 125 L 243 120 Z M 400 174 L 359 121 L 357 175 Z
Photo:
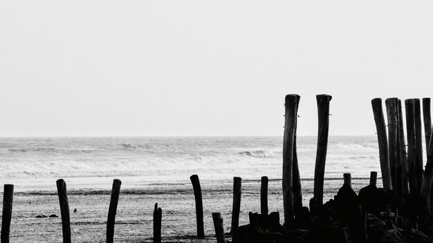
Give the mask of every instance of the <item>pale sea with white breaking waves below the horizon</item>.
M 197 174 L 218 181 L 282 178 L 283 138 L 275 137 L 6 137 L 0 138 L 0 182 L 15 191 L 185 183 Z M 313 179 L 317 137 L 297 137 L 302 179 Z M 331 136 L 325 178 L 368 178 L 380 164 L 377 137 Z

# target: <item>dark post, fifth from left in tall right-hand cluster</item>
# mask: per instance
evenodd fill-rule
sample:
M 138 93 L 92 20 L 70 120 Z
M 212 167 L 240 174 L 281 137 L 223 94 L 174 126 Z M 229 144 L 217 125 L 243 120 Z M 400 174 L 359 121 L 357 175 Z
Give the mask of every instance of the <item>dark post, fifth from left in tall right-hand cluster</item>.
M 423 135 L 421 130 L 421 102 L 414 99 L 414 119 L 415 119 L 415 176 L 416 186 L 421 193 L 421 184 L 423 184 L 424 166 L 423 166 Z M 428 148 L 428 147 L 427 147 Z

